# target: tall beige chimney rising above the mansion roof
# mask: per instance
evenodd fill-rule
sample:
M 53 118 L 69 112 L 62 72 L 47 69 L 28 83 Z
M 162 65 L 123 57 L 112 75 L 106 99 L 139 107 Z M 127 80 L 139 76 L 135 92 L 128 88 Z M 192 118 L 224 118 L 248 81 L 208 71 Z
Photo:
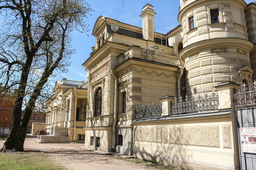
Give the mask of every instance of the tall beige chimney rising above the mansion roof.
M 154 41 L 154 15 L 157 14 L 154 12 L 153 6 L 146 4 L 142 8 L 142 23 L 143 23 L 143 39 Z

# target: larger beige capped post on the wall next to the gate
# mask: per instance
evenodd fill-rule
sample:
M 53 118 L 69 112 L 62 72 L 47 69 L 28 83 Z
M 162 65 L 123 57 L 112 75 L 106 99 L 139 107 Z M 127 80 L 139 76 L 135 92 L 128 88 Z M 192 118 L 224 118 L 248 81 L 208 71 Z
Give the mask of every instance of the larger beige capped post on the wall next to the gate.
M 215 86 L 216 91 L 218 91 L 219 110 L 233 107 L 234 88 L 238 87 L 239 85 L 235 82 L 223 82 Z

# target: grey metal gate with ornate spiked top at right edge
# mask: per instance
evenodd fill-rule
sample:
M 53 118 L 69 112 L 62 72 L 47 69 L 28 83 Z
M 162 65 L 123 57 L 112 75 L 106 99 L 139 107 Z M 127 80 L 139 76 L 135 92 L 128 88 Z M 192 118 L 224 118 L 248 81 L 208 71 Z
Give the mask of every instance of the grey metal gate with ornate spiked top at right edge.
M 253 91 L 247 91 L 246 84 L 243 83 L 242 92 L 236 94 L 234 89 L 236 103 L 236 118 L 238 127 L 239 150 L 241 170 L 256 169 L 256 154 L 245 153 L 242 151 L 242 139 L 240 135 L 240 127 L 255 127 L 256 122 L 256 81 L 253 83 Z

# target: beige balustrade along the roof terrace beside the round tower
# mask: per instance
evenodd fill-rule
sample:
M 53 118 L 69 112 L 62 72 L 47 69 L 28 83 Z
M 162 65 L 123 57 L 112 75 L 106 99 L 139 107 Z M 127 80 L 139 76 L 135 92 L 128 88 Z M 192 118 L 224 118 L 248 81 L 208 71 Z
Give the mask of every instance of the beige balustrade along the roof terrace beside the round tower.
M 140 57 L 142 59 L 146 59 L 146 60 L 149 60 L 149 61 L 161 62 L 161 63 L 177 65 L 177 66 L 180 65 L 179 57 L 170 56 L 170 55 L 167 55 L 167 54 L 157 53 L 157 55 L 155 55 L 155 53 L 153 53 L 151 51 L 141 50 L 140 51 Z

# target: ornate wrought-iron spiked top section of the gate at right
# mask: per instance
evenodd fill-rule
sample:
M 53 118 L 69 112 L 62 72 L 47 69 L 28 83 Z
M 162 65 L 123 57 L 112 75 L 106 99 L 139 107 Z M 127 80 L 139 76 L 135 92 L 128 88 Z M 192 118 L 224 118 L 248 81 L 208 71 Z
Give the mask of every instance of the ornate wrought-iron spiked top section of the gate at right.
M 247 91 L 247 85 L 242 85 L 242 92 L 239 90 L 238 94 L 235 94 L 236 108 L 247 107 L 256 105 L 256 81 L 253 82 L 253 91 Z M 236 93 L 237 91 L 235 91 Z

